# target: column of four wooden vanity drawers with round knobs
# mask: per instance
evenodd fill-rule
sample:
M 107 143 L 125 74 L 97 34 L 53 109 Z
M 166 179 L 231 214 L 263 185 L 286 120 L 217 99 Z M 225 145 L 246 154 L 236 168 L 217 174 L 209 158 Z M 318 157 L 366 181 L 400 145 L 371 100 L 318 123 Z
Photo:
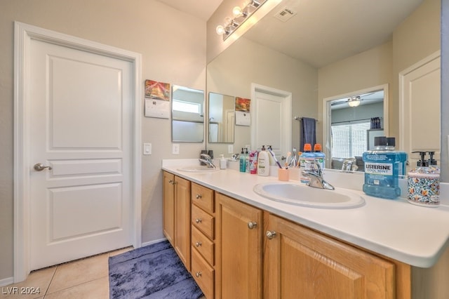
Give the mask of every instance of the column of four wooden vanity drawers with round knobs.
M 208 299 L 215 284 L 214 192 L 192 182 L 192 276 Z

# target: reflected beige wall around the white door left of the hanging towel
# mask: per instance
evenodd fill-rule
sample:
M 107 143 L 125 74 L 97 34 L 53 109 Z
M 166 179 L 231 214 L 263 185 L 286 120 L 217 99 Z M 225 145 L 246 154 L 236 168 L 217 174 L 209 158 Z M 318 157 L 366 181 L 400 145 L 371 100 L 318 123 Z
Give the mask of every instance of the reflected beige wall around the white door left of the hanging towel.
M 292 93 L 292 147 L 299 148 L 300 123 L 293 116 L 317 117 L 317 78 L 314 67 L 241 38 L 208 64 L 207 91 L 251 98 L 252 83 L 289 91 Z M 234 152 L 250 145 L 249 126 L 236 126 L 235 136 Z M 208 149 L 227 154 L 227 145 L 208 144 Z

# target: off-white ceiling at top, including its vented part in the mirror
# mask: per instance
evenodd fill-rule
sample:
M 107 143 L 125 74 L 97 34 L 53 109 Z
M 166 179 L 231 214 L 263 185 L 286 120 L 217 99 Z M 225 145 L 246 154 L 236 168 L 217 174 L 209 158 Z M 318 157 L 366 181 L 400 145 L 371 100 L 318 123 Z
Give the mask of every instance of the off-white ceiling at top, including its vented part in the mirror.
M 158 1 L 202 20 L 208 20 L 222 2 Z M 314 67 L 323 67 L 389 41 L 393 30 L 422 1 L 283 0 L 244 37 Z M 286 7 L 297 14 L 286 22 L 274 18 Z

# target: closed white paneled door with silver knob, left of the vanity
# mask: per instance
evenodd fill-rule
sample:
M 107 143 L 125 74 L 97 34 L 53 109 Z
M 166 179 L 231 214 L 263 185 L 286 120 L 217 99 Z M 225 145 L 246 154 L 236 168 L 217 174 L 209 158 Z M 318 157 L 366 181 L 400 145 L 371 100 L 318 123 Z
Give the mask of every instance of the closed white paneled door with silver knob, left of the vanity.
M 29 46 L 35 270 L 133 244 L 133 65 L 35 39 Z

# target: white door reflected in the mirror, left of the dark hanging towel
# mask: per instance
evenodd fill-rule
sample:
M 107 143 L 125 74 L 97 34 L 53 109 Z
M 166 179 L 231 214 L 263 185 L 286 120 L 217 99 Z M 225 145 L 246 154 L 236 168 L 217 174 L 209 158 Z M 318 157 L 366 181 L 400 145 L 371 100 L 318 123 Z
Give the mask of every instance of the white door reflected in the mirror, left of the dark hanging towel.
M 251 148 L 271 145 L 276 158 L 291 152 L 291 93 L 253 86 Z

